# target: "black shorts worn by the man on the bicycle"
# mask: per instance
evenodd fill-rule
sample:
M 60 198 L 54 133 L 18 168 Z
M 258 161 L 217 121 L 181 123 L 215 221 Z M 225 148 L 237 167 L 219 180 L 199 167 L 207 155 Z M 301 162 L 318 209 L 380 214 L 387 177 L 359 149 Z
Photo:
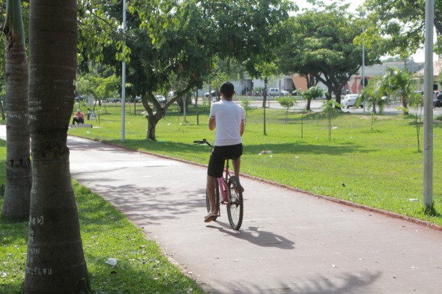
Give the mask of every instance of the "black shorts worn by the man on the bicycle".
M 238 159 L 242 155 L 242 144 L 229 146 L 215 146 L 209 159 L 207 175 L 211 177 L 222 177 L 224 161 L 226 159 Z

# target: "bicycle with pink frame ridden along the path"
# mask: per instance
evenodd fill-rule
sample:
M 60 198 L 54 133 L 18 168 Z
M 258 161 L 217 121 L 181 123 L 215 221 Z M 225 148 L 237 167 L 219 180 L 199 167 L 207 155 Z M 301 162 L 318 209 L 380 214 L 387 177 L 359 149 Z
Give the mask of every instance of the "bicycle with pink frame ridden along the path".
M 207 146 L 214 148 L 206 139 L 201 141 L 193 141 L 195 145 L 206 144 Z M 244 200 L 242 198 L 242 187 L 240 184 L 240 179 L 235 175 L 230 175 L 229 172 L 229 159 L 226 159 L 226 164 L 224 165 L 224 175 L 218 177 L 215 181 L 215 201 L 217 204 L 218 212 L 220 211 L 220 204 L 224 204 L 227 207 L 227 217 L 229 219 L 229 224 L 233 230 L 238 231 L 242 224 L 242 217 L 244 214 Z M 221 189 L 220 189 L 221 187 Z M 220 195 L 222 200 L 220 201 Z M 206 206 L 207 213 L 210 212 L 210 201 L 206 190 Z M 218 217 L 214 217 L 215 221 Z

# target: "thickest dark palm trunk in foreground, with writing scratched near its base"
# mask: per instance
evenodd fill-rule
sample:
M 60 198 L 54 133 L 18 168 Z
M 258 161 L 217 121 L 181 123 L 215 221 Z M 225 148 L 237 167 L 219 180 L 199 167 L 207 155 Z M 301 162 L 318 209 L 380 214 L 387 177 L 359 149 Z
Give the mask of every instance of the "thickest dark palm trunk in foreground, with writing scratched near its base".
M 77 68 L 77 1 L 30 1 L 32 191 L 25 293 L 89 293 L 67 131 Z

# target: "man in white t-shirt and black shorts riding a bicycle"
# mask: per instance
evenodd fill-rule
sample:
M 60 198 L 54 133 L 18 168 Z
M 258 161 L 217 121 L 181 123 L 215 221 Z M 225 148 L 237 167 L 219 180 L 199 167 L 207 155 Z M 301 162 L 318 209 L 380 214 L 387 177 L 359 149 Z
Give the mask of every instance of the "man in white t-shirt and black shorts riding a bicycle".
M 215 130 L 215 148 L 209 159 L 207 169 L 206 190 L 211 210 L 204 217 L 204 222 L 211 222 L 218 217 L 219 211 L 215 203 L 215 180 L 222 177 L 224 161 L 232 159 L 236 177 L 240 177 L 242 155 L 241 136 L 244 133 L 244 108 L 232 101 L 235 87 L 226 81 L 220 86 L 221 101 L 215 102 L 210 108 L 209 129 Z

